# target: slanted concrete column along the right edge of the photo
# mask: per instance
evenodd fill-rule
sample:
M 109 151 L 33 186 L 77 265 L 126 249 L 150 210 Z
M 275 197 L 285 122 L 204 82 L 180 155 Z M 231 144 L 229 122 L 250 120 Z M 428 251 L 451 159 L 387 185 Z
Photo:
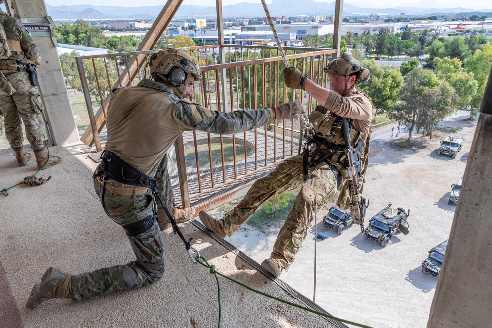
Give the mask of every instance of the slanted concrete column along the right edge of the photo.
M 492 67 L 432 301 L 428 328 L 491 327 L 491 158 Z

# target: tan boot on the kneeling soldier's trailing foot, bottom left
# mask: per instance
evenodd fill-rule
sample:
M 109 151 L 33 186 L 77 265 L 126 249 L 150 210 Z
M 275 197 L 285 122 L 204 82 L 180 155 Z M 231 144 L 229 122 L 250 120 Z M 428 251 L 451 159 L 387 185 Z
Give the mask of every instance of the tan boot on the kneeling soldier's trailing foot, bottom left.
M 72 275 L 56 267 L 50 267 L 29 295 L 26 307 L 34 308 L 48 299 L 73 298 Z

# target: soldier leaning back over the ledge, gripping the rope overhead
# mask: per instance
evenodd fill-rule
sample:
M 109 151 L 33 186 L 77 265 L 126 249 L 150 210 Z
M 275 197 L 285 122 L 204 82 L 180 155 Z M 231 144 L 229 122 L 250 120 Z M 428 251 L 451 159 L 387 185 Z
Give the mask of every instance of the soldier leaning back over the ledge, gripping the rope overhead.
M 350 144 L 357 149 L 359 156 L 362 155 L 364 141 L 369 137 L 372 104 L 364 93 L 355 88 L 358 81 L 369 80 L 369 69 L 361 67 L 351 53 L 343 53 L 330 62 L 325 72 L 330 74 L 331 90 L 312 82 L 295 68 L 283 71 L 287 87 L 303 89 L 317 102 L 324 104 L 316 107 L 316 111 L 309 116 L 314 126 L 314 135 L 310 136 L 309 141 L 316 147 L 312 147 L 308 158 L 304 160 L 301 154 L 280 163 L 267 176 L 258 179 L 238 205 L 222 219 L 215 220 L 204 211 L 199 213 L 200 220 L 210 230 L 222 238 L 226 235 L 231 237 L 271 197 L 301 187 L 278 233 L 270 258 L 261 263 L 266 271 L 276 277 L 294 262 L 311 227 L 313 210 L 324 199 L 338 189 L 341 192 L 337 204 L 342 209 L 348 207 L 350 190 L 348 182 L 341 182 L 340 175 L 340 171 L 348 166 L 347 157 L 343 155 L 342 118 L 353 119 Z

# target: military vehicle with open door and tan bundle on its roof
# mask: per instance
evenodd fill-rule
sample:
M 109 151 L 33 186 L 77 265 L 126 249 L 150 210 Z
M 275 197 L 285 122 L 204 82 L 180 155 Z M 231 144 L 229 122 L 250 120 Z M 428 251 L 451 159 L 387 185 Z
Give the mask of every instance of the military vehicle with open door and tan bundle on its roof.
M 381 246 L 386 247 L 390 238 L 395 236 L 398 231 L 408 235 L 407 218 L 410 215 L 403 208 L 392 208 L 391 203 L 374 215 L 369 220 L 369 227 L 364 230 L 365 239 L 373 239 L 375 242 L 381 242 Z

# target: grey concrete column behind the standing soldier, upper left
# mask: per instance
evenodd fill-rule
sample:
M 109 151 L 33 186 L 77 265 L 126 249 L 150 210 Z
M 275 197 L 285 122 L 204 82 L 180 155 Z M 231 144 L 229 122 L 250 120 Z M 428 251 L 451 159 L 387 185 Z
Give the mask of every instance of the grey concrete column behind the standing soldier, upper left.
M 11 2 L 11 3 L 8 3 Z M 50 26 L 44 0 L 8 1 L 10 12 L 24 25 Z M 50 28 L 51 31 L 51 28 Z M 43 116 L 49 132 L 49 142 L 63 145 L 79 141 L 77 126 L 68 99 L 62 66 L 50 32 L 31 32 L 41 54 L 42 67 L 37 69 L 44 102 Z

